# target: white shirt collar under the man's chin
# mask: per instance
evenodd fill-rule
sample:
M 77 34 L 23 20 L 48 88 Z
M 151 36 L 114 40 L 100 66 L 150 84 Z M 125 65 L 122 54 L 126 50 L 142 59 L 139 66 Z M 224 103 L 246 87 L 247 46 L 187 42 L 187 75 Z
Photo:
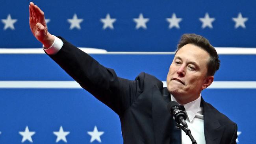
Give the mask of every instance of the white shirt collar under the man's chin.
M 171 94 L 171 100 L 177 102 L 172 94 Z M 186 109 L 185 112 L 187 113 L 187 120 L 189 122 L 192 122 L 197 112 L 200 110 L 200 103 L 201 103 L 201 94 L 197 98 L 197 100 L 184 104 L 184 108 Z

